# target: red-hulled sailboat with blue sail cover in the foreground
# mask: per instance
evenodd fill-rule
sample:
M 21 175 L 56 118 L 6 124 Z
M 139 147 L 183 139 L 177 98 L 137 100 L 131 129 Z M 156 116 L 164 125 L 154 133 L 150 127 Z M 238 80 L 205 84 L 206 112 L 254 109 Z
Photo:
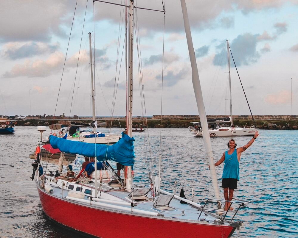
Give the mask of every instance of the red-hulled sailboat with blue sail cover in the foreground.
M 245 201 L 233 201 L 232 214 L 221 209 L 221 201 L 215 175 L 214 162 L 208 128 L 203 129 L 204 144 L 211 168 L 215 199 L 208 199 L 204 206 L 185 198 L 161 190 L 160 175 L 150 183 L 133 184 L 132 166 L 134 164 L 134 138 L 132 137 L 132 89 L 133 89 L 133 17 L 134 1 L 129 6 L 129 50 L 128 50 L 128 96 L 127 96 L 127 134 L 114 145 L 101 145 L 69 141 L 50 136 L 43 141 L 42 133 L 46 127 L 38 127 L 41 141 L 36 149 L 32 178 L 38 189 L 41 206 L 45 214 L 55 222 L 94 237 L 230 237 L 243 222 L 234 221 L 235 214 Z M 207 119 L 202 105 L 201 87 L 196 69 L 195 55 L 191 42 L 186 4 L 181 0 L 187 43 L 193 69 L 193 86 L 202 127 Z M 89 36 L 91 37 L 91 35 Z M 91 41 L 91 40 L 90 40 Z M 91 54 L 91 52 L 90 52 Z M 92 65 L 92 59 L 91 59 Z M 96 140 L 96 138 L 95 138 Z M 80 154 L 95 157 L 97 163 L 89 163 L 81 171 L 85 177 L 78 176 L 69 164 L 65 172 L 60 167 L 54 171 L 52 166 L 42 160 L 41 147 L 50 143 L 61 153 Z M 63 156 L 61 156 L 63 160 Z M 108 159 L 124 165 L 124 179 L 121 179 L 108 163 Z M 41 162 L 43 164 L 41 164 Z M 35 171 L 37 174 L 35 175 Z M 86 217 L 96 217 L 98 222 L 90 222 Z

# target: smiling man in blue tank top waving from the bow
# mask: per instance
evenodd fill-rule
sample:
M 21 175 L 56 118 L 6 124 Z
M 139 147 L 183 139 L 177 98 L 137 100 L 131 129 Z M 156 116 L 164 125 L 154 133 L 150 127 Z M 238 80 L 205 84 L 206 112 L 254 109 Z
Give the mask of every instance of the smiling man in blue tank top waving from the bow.
M 239 162 L 240 162 L 240 156 L 243 151 L 246 151 L 249 146 L 254 143 L 254 140 L 257 139 L 259 136 L 259 131 L 256 131 L 252 139 L 244 146 L 240 148 L 236 148 L 237 144 L 235 143 L 235 140 L 231 139 L 229 140 L 228 148 L 229 150 L 225 151 L 223 153 L 223 156 L 221 156 L 221 159 L 218 160 L 214 164 L 214 166 L 220 165 L 222 162 L 224 162 L 224 170 L 223 170 L 223 176 L 222 176 L 222 182 L 221 187 L 224 188 L 224 200 L 226 201 L 232 201 L 234 189 L 237 189 L 237 182 L 239 180 Z M 209 166 L 209 165 L 208 165 Z M 229 202 L 225 203 L 224 210 L 227 211 L 230 206 Z M 233 210 L 232 207 L 230 207 L 230 210 Z

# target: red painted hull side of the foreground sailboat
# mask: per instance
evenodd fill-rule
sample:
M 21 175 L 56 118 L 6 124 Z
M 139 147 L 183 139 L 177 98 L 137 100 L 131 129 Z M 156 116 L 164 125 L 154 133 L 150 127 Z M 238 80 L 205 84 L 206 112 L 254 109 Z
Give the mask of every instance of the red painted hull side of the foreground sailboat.
M 235 230 L 231 226 L 187 223 L 95 209 L 59 199 L 39 188 L 38 193 L 47 216 L 64 226 L 96 237 L 140 238 L 158 235 L 163 238 L 225 238 Z

